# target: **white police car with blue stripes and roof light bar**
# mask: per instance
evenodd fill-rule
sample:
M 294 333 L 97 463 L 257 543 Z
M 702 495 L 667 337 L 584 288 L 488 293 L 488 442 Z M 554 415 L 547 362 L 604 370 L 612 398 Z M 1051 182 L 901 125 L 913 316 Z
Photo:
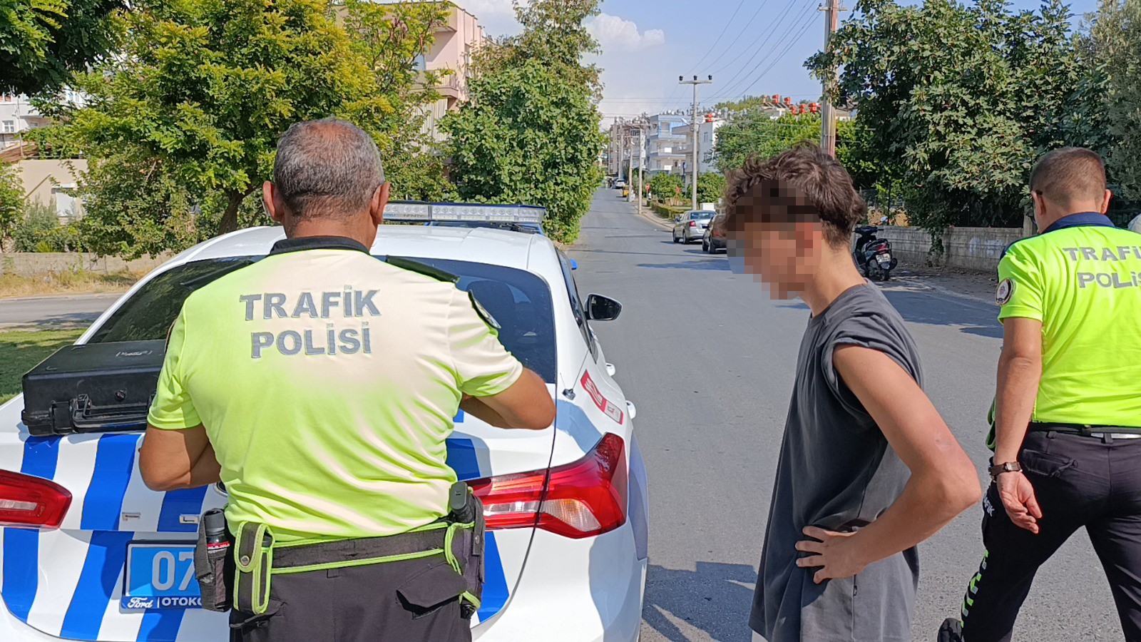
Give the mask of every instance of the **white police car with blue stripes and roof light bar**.
M 406 220 L 532 215 L 426 203 L 387 212 Z M 282 236 L 281 227 L 243 230 L 186 250 L 79 343 L 163 338 L 191 290 L 265 256 Z M 580 298 L 569 260 L 540 234 L 386 225 L 372 251 L 459 275 L 502 326 L 503 344 L 556 396 L 551 428 L 503 431 L 461 414 L 448 440 L 448 463 L 483 499 L 489 529 L 475 637 L 637 640 L 646 473 L 633 406 L 590 328 L 620 306 Z M 22 409 L 22 396 L 0 407 L 0 640 L 225 639 L 227 616 L 195 608 L 189 555 L 197 516 L 225 504 L 222 489 L 151 491 L 136 465 L 140 432 L 31 436 Z

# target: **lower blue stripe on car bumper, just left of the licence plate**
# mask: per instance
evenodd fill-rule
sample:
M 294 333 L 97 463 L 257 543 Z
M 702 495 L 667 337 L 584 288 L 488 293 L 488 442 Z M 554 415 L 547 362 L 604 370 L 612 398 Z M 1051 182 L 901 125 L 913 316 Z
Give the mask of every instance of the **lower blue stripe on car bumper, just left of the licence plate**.
M 123 436 L 123 435 L 119 435 Z M 131 442 L 138 438 L 132 436 Z M 102 440 L 100 440 L 102 441 Z M 99 444 L 102 448 L 102 443 Z M 92 482 L 92 488 L 95 483 Z M 90 495 L 90 491 L 88 491 Z M 84 511 L 84 515 L 86 515 Z M 59 632 L 62 637 L 75 640 L 97 640 L 103 625 L 103 613 L 123 572 L 127 562 L 127 543 L 135 537 L 129 531 L 95 531 L 87 547 L 87 559 L 79 572 L 79 583 L 72 594 L 71 604 L 64 615 L 64 626 Z

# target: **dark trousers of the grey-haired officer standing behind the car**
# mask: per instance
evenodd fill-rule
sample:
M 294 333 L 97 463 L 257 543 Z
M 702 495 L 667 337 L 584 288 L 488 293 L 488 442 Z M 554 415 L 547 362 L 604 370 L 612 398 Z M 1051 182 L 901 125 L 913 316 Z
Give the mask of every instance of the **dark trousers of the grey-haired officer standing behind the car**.
M 269 608 L 230 612 L 230 642 L 470 642 L 444 555 L 275 575 Z

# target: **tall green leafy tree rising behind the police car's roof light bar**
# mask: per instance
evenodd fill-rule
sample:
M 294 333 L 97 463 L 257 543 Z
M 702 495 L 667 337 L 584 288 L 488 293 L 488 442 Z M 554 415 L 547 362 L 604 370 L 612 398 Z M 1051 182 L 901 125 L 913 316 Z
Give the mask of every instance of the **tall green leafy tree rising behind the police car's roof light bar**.
M 598 50 L 583 26 L 598 3 L 517 6 L 523 32 L 484 47 L 470 101 L 443 123 L 460 198 L 543 206 L 547 233 L 564 242 L 602 179 L 598 70 L 580 62 Z

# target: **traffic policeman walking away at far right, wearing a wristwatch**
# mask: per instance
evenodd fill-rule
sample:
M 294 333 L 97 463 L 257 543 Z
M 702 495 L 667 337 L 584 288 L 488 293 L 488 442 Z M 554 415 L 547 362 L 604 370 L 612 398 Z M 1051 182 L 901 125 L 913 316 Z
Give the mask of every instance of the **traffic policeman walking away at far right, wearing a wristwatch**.
M 1126 640 L 1141 641 L 1141 238 L 1104 216 L 1101 158 L 1076 147 L 1030 175 L 1042 234 L 998 265 L 1003 351 L 986 554 L 940 640 L 1009 641 L 1034 576 L 1085 527 Z M 961 626 L 961 632 L 956 631 Z

